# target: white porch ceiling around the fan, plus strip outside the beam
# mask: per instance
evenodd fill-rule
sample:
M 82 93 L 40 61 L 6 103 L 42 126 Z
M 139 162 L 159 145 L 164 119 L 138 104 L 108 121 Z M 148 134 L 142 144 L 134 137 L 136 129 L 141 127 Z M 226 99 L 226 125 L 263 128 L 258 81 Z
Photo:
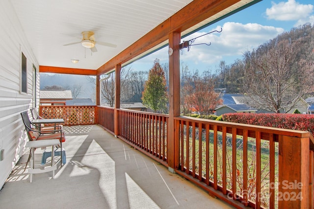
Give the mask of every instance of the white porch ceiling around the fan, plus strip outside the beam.
M 30 46 L 41 66 L 96 70 L 192 0 L 11 0 Z M 224 15 L 252 0 L 244 0 Z M 204 21 L 200 27 L 210 20 Z M 79 42 L 82 31 L 94 31 L 97 45 L 91 52 Z M 185 31 L 185 33 L 189 32 Z M 71 59 L 78 59 L 73 64 Z

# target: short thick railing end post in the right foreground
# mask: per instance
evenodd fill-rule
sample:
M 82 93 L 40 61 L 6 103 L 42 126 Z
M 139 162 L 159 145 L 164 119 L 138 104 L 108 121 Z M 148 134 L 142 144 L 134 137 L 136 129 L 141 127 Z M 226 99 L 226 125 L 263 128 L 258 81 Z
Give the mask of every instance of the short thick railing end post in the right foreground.
M 279 138 L 278 208 L 309 208 L 310 139 Z M 271 183 L 270 186 L 276 184 Z

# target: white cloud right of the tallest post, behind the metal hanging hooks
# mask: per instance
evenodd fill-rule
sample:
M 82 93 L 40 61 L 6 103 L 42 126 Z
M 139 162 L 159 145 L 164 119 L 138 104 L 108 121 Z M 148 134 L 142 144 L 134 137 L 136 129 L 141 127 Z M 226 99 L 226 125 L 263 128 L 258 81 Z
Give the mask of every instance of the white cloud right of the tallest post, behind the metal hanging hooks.
M 212 30 L 220 30 L 221 26 Z M 211 43 L 210 46 L 191 46 L 190 51 L 183 49 L 184 62 L 213 64 L 225 60 L 227 56 L 242 56 L 247 50 L 251 50 L 268 40 L 275 38 L 284 32 L 283 28 L 265 26 L 257 23 L 224 23 L 221 33 L 211 33 L 195 40 L 193 44 Z M 206 32 L 196 32 L 183 40 L 198 37 Z

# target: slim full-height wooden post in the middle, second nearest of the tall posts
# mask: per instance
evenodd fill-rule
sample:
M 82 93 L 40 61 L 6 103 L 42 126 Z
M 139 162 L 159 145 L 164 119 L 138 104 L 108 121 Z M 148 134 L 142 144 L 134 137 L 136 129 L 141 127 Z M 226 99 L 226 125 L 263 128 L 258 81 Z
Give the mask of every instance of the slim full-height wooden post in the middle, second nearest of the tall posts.
M 119 111 L 120 109 L 120 80 L 121 80 L 121 65 L 116 65 L 116 93 L 114 99 L 114 135 L 120 135 Z

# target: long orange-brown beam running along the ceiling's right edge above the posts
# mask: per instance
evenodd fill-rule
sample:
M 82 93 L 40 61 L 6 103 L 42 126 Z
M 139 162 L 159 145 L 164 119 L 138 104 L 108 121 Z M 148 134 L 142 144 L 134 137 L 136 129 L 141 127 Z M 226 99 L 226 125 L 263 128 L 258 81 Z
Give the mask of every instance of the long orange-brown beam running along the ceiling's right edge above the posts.
M 134 44 L 97 69 L 97 75 L 104 74 L 148 49 L 166 41 L 172 32 L 182 32 L 197 23 L 232 6 L 240 0 L 193 0 L 176 14 L 160 23 Z

